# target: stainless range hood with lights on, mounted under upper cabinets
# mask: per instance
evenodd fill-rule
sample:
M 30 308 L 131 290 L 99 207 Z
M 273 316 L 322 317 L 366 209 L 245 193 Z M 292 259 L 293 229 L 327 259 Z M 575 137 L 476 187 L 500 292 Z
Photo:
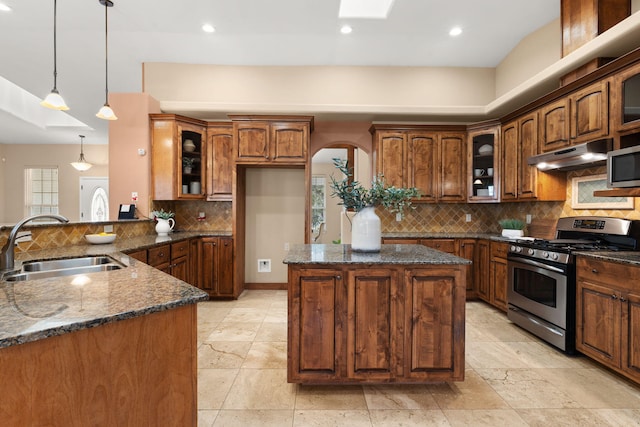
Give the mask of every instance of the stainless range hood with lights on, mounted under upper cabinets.
M 598 139 L 572 147 L 561 148 L 548 153 L 531 156 L 530 165 L 543 171 L 568 171 L 600 166 L 607 163 L 607 152 L 613 148 L 611 138 Z

